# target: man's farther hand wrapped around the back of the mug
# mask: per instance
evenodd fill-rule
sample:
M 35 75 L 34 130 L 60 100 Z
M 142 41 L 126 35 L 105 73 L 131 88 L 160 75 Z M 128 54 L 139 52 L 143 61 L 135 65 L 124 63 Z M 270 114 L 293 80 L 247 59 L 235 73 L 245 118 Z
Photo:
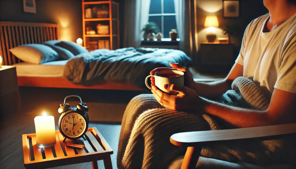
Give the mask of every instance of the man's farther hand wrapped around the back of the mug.
M 150 72 L 150 75 L 154 75 L 155 72 L 159 72 L 162 70 L 179 70 L 179 71 L 182 71 L 185 73 L 184 86 L 189 87 L 189 88 L 192 88 L 192 86 L 194 86 L 195 82 L 194 82 L 189 70 L 186 67 L 180 65 L 179 63 L 172 63 L 172 62 L 170 62 L 170 66 L 172 68 L 168 68 L 168 67 L 156 68 Z M 155 86 L 155 78 L 151 77 L 150 79 L 151 79 L 151 86 Z

